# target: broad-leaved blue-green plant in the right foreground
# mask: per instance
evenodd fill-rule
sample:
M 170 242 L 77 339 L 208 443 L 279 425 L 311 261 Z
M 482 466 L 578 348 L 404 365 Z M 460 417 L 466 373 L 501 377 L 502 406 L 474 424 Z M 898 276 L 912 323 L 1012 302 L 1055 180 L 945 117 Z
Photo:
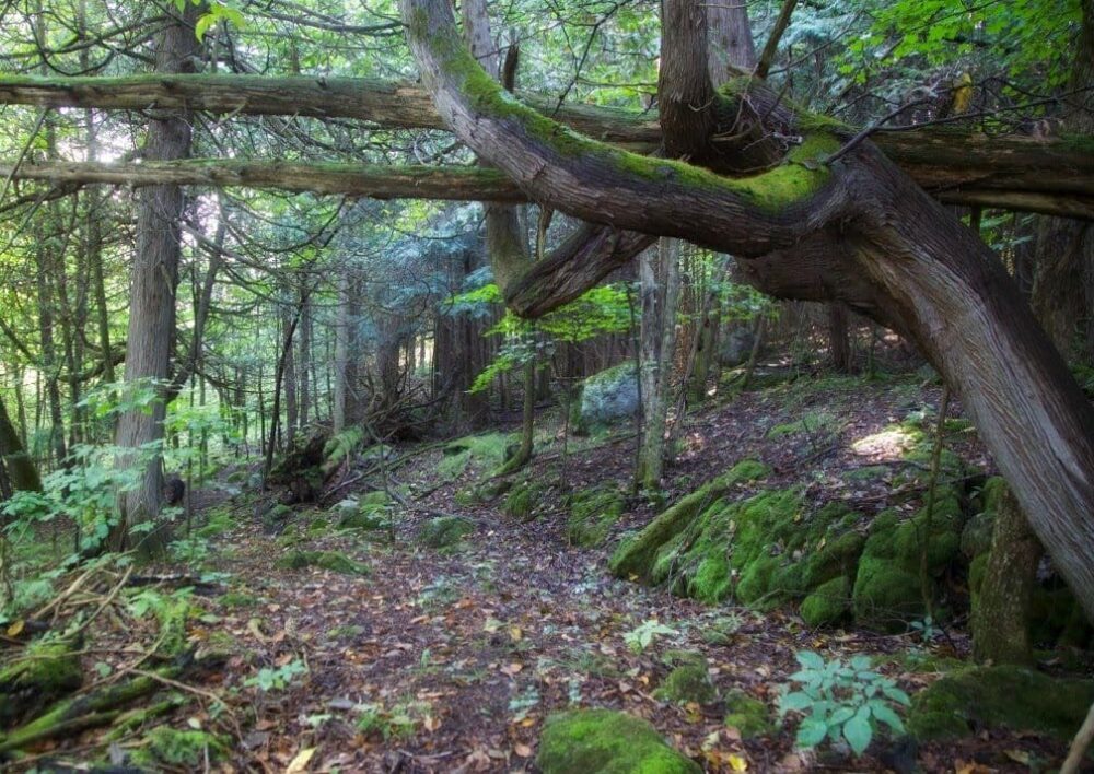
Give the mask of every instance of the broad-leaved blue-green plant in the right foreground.
M 849 662 L 835 658 L 826 661 L 810 650 L 796 654 L 801 669 L 790 676 L 798 690 L 783 688 L 779 697 L 779 717 L 800 713 L 796 743 L 814 748 L 825 739 L 846 739 L 856 755 L 861 755 L 874 737 L 877 723 L 903 734 L 904 724 L 894 707 L 908 706 L 908 694 L 896 682 L 870 668 L 870 658 L 854 656 Z

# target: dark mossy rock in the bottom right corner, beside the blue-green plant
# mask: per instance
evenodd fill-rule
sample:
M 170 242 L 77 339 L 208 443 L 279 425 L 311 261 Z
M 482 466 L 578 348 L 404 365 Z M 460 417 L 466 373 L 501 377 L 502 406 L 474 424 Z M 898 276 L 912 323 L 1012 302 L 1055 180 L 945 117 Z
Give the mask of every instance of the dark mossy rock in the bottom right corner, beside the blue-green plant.
M 946 675 L 912 699 L 908 730 L 921 741 L 1006 727 L 1070 739 L 1094 702 L 1094 682 L 1061 680 L 1019 667 Z

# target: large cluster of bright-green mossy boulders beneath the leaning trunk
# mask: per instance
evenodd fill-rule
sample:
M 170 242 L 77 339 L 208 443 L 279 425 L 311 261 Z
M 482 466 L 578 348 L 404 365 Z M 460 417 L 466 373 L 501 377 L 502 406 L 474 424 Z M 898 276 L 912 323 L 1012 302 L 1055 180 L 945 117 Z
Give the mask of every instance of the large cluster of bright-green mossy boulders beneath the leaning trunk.
M 903 629 L 923 614 L 924 553 L 932 595 L 961 553 L 956 490 L 941 486 L 930 516 L 924 506 L 911 517 L 891 511 L 870 519 L 840 503 L 812 508 L 798 486 L 763 489 L 767 474 L 755 460 L 738 462 L 625 539 L 612 568 L 710 603 L 799 601 L 811 626 L 853 617 Z

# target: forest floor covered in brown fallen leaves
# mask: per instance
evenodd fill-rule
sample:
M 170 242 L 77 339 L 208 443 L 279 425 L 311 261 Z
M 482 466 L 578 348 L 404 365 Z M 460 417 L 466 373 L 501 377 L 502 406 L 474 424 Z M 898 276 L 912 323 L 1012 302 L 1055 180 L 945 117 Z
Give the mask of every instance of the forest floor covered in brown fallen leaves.
M 868 513 L 881 509 L 889 504 L 884 480 L 849 484 L 843 473 L 884 464 L 886 452 L 854 449 L 853 442 L 911 411 L 931 410 L 939 397 L 936 386 L 915 378 L 830 378 L 712 401 L 687 420 L 667 471 L 668 502 L 752 457 L 788 484 L 806 482 L 816 502 L 841 497 Z M 779 423 L 822 414 L 823 432 L 768 437 Z M 878 740 L 856 760 L 846 751 L 796 751 L 790 729 L 745 741 L 717 704 L 659 701 L 654 689 L 671 649 L 703 654 L 721 695 L 744 691 L 773 715 L 800 650 L 877 657 L 877 668 L 912 693 L 936 677 L 922 665 L 964 657 L 968 642 L 959 628 L 931 643 L 910 634 L 813 631 L 791 611 L 709 607 L 612 577 L 606 560 L 615 539 L 595 550 L 568 544 L 562 495 L 594 482 L 626 484 L 633 441 L 582 443 L 565 460 L 548 453 L 533 462 L 532 474 L 551 488 L 528 523 L 503 515 L 498 501 L 457 504 L 459 488 L 481 476 L 474 466 L 444 482 L 440 449 L 416 456 L 392 476 L 428 495 L 411 494 L 415 508 L 397 516 L 394 541 L 327 531 L 306 543 L 360 561 L 365 575 L 278 568 L 286 548 L 258 517 L 265 501 L 226 485 L 207 488 L 198 497 L 203 507 L 229 509 L 235 523 L 207 559 L 229 593 L 194 598 L 206 614 L 189 637 L 200 643 L 226 633 L 233 655 L 193 683 L 202 694 L 191 692 L 194 701 L 172 723 L 230 732 L 234 747 L 224 762 L 260 771 L 535 771 L 544 719 L 577 706 L 648 718 L 708 771 L 911 771 L 918 758 L 929 772 L 1027 772 L 1066 752 L 1040 737 L 985 731 L 915 751 Z M 989 465 L 971 433 L 958 433 L 947 448 Z M 655 513 L 641 500 L 631 505 L 616 535 Z M 309 506 L 299 507 L 306 517 Z M 453 549 L 422 548 L 414 536 L 437 513 L 458 513 L 475 531 Z M 627 635 L 651 621 L 671 631 L 632 647 Z M 256 685 L 263 669 L 266 685 Z M 212 695 L 224 699 L 226 711 L 210 713 Z

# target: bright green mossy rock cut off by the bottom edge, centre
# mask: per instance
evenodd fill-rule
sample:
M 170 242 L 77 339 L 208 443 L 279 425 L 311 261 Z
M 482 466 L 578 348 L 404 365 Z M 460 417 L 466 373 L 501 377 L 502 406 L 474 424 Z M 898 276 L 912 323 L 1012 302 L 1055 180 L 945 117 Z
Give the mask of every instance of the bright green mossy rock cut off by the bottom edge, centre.
M 544 724 L 536 759 L 544 774 L 699 774 L 649 723 L 621 712 L 579 710 Z

